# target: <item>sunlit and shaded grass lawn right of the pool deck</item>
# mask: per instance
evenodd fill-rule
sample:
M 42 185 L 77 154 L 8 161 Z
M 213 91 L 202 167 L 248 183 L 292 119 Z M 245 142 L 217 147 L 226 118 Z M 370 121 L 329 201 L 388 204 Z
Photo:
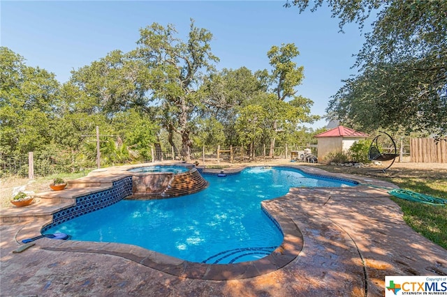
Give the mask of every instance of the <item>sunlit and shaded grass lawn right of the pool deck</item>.
M 447 166 L 415 165 L 398 163 L 387 172 L 369 168 L 317 165 L 328 172 L 358 174 L 389 181 L 405 190 L 447 199 Z M 413 230 L 447 250 L 447 206 L 431 206 L 391 197 L 404 213 L 404 221 Z

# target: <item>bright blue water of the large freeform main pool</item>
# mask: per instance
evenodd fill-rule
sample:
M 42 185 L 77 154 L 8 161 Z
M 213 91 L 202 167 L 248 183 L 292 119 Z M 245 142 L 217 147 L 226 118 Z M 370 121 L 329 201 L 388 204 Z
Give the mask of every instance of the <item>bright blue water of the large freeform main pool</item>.
M 204 177 L 210 186 L 196 194 L 122 200 L 45 234 L 62 232 L 78 241 L 129 243 L 208 264 L 251 261 L 270 254 L 283 240 L 281 231 L 263 213 L 261 201 L 283 196 L 292 187 L 356 185 L 281 167 L 252 167 L 234 176 Z

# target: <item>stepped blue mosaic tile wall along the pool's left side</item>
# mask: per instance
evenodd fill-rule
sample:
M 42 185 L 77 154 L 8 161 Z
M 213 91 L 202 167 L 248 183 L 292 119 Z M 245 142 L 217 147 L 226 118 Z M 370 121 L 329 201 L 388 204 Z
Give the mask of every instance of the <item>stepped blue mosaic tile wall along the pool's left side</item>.
M 101 208 L 115 204 L 129 195 L 132 195 L 132 176 L 127 176 L 119 181 L 114 181 L 112 183 L 112 188 L 108 190 L 76 198 L 75 206 L 53 213 L 53 222 L 43 227 L 42 233 L 58 224 L 78 218 L 80 215 L 98 211 Z

